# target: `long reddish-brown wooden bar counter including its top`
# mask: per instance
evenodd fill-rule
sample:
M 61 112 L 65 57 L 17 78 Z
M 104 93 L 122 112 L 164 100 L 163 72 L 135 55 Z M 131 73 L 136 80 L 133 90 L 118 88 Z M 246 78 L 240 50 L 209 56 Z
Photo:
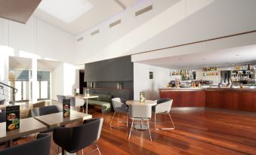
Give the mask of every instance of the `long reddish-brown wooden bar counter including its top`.
M 256 89 L 163 88 L 161 98 L 174 99 L 173 107 L 223 108 L 256 112 Z

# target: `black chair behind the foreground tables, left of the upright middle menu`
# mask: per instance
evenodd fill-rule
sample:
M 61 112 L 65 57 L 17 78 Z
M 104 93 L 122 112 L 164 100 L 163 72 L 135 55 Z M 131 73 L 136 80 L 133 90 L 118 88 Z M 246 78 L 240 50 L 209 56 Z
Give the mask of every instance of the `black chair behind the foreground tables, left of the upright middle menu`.
M 46 114 L 54 114 L 61 112 L 62 109 L 57 105 L 49 105 L 46 107 L 33 108 L 31 111 L 32 117 L 42 116 Z

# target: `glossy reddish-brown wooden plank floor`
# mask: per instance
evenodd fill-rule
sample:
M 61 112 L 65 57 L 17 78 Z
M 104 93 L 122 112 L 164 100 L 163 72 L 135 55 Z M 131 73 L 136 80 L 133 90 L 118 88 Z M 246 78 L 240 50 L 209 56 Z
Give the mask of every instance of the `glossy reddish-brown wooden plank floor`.
M 237 113 L 207 109 L 205 111 L 172 111 L 176 126 L 172 130 L 155 130 L 151 124 L 153 141 L 147 131 L 134 130 L 130 141 L 128 129 L 110 128 L 112 114 L 90 111 L 94 117 L 103 117 L 103 130 L 98 141 L 104 154 L 256 154 L 256 114 Z M 125 116 L 121 116 L 125 120 Z M 164 116 L 157 120 L 165 120 Z M 114 122 L 116 123 L 116 121 Z M 116 124 L 117 125 L 117 124 Z M 125 123 L 119 123 L 125 126 Z M 163 125 L 165 127 L 171 124 Z M 159 127 L 161 127 L 159 125 Z M 23 138 L 18 144 L 30 141 Z M 94 146 L 84 151 L 92 150 Z M 57 146 L 52 142 L 51 154 L 56 154 Z M 81 151 L 79 154 L 82 154 Z M 98 154 L 97 151 L 91 154 Z

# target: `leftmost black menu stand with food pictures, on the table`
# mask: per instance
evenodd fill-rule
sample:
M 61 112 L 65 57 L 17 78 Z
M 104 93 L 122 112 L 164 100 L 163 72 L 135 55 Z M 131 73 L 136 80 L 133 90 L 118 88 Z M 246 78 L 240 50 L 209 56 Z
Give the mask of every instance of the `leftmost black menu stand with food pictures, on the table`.
M 20 105 L 6 107 L 6 131 L 20 129 Z

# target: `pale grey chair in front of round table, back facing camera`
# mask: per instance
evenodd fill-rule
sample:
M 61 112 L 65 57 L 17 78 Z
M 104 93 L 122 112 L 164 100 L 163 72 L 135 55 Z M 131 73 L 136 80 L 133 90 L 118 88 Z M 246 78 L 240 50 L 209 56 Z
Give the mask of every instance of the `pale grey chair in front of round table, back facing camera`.
M 152 114 L 152 106 L 151 105 L 129 105 L 129 115 L 132 120 L 131 129 L 128 135 L 128 139 L 131 138 L 131 130 L 134 126 L 134 120 L 140 120 L 139 126 L 143 126 L 143 121 L 147 121 L 147 129 L 150 133 L 150 119 Z M 150 133 L 150 141 L 152 141 L 151 133 Z

